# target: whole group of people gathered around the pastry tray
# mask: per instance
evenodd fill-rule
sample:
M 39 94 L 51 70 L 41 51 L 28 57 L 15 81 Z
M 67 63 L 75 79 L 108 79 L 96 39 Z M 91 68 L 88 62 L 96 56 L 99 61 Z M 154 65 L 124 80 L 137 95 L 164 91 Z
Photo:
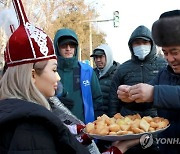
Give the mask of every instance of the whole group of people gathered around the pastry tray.
M 179 153 L 178 144 L 143 149 L 139 138 L 106 142 L 83 130 L 103 114 L 139 114 L 169 120 L 154 138 L 180 138 L 180 10 L 162 13 L 152 31 L 138 26 L 123 64 L 100 44 L 90 55 L 92 68 L 78 61 L 74 30 L 57 30 L 53 43 L 28 21 L 21 0 L 12 2 L 19 27 L 8 40 L 0 78 L 1 154 Z

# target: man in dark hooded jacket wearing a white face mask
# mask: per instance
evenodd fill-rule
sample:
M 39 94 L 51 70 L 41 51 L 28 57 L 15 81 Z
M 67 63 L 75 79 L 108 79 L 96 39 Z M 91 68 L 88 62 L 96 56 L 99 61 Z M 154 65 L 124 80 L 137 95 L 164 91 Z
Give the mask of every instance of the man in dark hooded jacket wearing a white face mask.
M 120 112 L 123 116 L 140 114 L 143 116 L 157 116 L 157 110 L 152 104 L 125 103 L 118 98 L 117 90 L 119 85 L 134 85 L 139 82 L 148 83 L 159 70 L 167 65 L 164 58 L 157 55 L 155 43 L 150 30 L 144 25 L 138 26 L 131 34 L 128 42 L 131 52 L 131 59 L 121 64 L 115 73 L 110 90 L 109 114 L 113 116 Z M 156 144 L 147 149 L 142 149 L 140 145 L 131 149 L 129 153 L 158 153 Z

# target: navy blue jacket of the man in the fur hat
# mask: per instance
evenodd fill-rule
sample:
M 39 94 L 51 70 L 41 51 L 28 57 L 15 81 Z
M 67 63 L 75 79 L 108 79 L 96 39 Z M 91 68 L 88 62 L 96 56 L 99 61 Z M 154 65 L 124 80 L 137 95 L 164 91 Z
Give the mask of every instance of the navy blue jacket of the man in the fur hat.
M 159 134 L 160 138 L 179 139 L 180 143 L 180 75 L 174 74 L 168 66 L 159 72 L 152 82 L 154 86 L 154 106 L 158 108 L 158 116 L 167 118 L 170 127 Z M 161 144 L 162 153 L 177 154 L 178 144 Z

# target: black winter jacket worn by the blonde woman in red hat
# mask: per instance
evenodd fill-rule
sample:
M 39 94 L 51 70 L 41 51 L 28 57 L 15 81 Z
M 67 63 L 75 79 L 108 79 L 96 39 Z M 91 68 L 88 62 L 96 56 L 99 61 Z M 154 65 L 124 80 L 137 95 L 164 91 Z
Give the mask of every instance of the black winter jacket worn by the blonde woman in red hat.
M 43 106 L 19 99 L 0 101 L 0 154 L 89 153 Z

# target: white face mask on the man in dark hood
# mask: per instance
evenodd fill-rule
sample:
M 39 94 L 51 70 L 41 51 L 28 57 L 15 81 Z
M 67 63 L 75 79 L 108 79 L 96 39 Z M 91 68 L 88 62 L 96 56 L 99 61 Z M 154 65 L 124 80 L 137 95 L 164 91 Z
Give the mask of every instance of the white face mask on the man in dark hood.
M 134 55 L 138 57 L 139 60 L 144 60 L 144 58 L 150 53 L 150 45 L 140 45 L 133 48 Z

